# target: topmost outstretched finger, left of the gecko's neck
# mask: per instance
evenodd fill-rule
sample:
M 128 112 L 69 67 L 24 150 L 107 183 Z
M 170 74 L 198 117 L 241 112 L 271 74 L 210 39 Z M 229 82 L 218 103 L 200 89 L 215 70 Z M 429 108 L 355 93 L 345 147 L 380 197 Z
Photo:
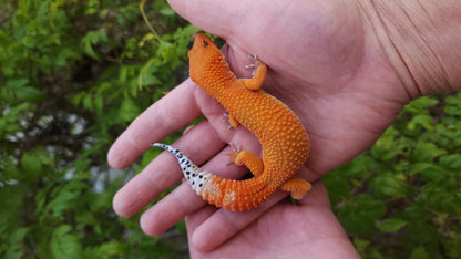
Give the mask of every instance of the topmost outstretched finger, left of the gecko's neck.
M 115 141 L 107 153 L 109 164 L 121 169 L 151 147 L 196 118 L 201 111 L 193 94 L 196 85 L 186 80 L 152 104 Z

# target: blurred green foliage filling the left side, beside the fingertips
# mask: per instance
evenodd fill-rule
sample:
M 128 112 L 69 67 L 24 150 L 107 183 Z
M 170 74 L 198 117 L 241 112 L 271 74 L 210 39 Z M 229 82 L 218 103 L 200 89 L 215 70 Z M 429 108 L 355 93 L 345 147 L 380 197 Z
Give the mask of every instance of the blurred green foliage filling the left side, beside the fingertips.
M 1 1 L 1 258 L 183 252 L 144 235 L 137 217 L 113 213 L 125 179 L 105 154 L 134 117 L 184 80 L 196 31 L 165 1 Z M 184 222 L 172 232 L 178 229 Z

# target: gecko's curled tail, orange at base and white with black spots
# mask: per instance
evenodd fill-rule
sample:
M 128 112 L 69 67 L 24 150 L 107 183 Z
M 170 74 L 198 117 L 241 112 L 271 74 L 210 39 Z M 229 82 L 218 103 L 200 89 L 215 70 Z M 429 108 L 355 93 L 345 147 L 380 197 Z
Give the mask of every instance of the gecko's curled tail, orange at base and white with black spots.
M 172 153 L 176 157 L 184 178 L 192 189 L 216 207 L 240 211 L 248 210 L 264 203 L 275 191 L 262 177 L 246 180 L 218 177 L 201 169 L 180 149 L 173 146 L 162 143 L 153 143 L 151 145 L 162 147 Z

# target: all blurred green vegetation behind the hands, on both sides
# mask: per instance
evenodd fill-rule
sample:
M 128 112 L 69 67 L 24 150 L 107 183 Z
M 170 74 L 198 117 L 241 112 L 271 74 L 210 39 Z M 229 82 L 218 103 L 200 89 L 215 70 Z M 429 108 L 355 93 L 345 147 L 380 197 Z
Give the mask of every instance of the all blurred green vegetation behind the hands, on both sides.
M 187 77 L 195 32 L 166 1 L 0 0 L 1 258 L 188 257 L 183 222 L 148 237 L 112 210 L 158 151 L 123 172 L 105 156 Z M 365 258 L 461 258 L 460 118 L 461 94 L 418 99 L 325 177 Z

